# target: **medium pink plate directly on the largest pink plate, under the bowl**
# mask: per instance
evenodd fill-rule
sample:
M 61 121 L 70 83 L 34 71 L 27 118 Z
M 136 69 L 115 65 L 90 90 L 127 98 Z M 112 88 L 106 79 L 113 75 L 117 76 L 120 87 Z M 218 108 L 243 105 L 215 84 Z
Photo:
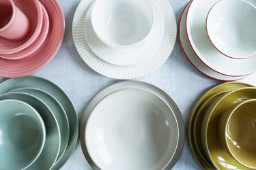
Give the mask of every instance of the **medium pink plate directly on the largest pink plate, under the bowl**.
M 44 40 L 46 39 L 46 36 L 48 34 L 48 30 L 49 30 L 49 18 L 48 18 L 48 14 L 46 12 L 44 5 L 42 5 L 42 4 L 40 4 L 40 5 L 42 7 L 43 20 L 42 20 L 42 31 L 41 31 L 38 39 L 36 39 L 35 42 L 33 42 L 33 44 L 31 44 L 31 46 L 29 46 L 28 48 L 25 48 L 24 50 L 21 50 L 20 52 L 16 52 L 13 54 L 0 54 L 1 58 L 5 58 L 8 60 L 16 60 L 16 59 L 20 59 L 20 58 L 25 58 L 25 57 L 29 56 L 30 54 L 33 54 L 33 52 L 35 52 L 36 50 L 38 50 L 38 48 L 40 48 L 40 46 L 42 46 L 42 44 L 44 43 Z

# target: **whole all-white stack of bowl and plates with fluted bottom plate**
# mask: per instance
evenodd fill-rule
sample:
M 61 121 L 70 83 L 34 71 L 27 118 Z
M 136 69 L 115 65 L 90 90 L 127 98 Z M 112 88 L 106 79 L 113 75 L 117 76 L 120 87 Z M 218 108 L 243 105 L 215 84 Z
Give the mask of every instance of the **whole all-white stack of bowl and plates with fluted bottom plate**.
M 177 26 L 166 0 L 82 0 L 74 44 L 83 61 L 109 78 L 138 78 L 158 69 L 173 50 Z

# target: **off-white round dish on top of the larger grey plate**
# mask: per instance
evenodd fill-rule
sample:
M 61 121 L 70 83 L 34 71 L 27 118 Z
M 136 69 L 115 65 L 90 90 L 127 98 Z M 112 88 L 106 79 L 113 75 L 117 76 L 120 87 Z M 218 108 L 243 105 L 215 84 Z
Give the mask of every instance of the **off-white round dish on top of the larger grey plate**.
M 177 146 L 177 122 L 164 101 L 126 89 L 105 97 L 85 129 L 87 150 L 100 169 L 163 169 Z

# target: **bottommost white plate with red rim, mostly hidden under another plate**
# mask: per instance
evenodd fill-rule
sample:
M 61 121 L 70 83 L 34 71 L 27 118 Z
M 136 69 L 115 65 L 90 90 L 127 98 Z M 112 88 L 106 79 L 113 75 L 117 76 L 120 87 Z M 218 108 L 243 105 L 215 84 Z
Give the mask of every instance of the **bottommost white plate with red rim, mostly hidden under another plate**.
M 188 3 L 189 5 L 190 3 Z M 187 33 L 186 33 L 186 15 L 188 12 L 188 5 L 184 8 L 184 11 L 182 12 L 182 16 L 180 18 L 180 45 L 182 46 L 182 50 L 184 54 L 186 55 L 186 58 L 188 58 L 188 61 L 201 73 L 204 75 L 214 78 L 216 80 L 221 81 L 234 81 L 234 80 L 240 80 L 242 78 L 246 78 L 246 76 L 242 77 L 231 77 L 227 75 L 223 75 L 221 73 L 217 73 L 216 71 L 213 71 L 207 65 L 205 65 L 195 54 L 193 49 L 191 48 Z

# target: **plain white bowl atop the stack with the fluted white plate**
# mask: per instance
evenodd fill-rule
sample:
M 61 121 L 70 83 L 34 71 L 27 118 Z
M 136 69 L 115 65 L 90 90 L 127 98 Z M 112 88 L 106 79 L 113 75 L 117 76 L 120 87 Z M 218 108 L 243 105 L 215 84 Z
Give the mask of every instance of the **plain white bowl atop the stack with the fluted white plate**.
M 107 46 L 126 49 L 143 44 L 153 27 L 154 12 L 150 0 L 96 0 L 91 24 Z

